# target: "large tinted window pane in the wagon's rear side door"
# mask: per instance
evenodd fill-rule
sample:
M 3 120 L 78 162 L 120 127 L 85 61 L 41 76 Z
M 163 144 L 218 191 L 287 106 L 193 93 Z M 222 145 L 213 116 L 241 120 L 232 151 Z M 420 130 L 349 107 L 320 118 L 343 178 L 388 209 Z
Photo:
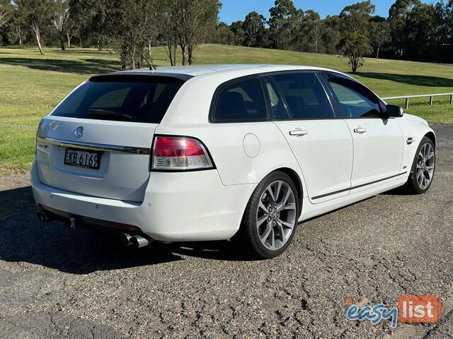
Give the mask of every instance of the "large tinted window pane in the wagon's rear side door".
M 333 110 L 314 73 L 283 73 L 274 76 L 293 119 L 329 119 Z

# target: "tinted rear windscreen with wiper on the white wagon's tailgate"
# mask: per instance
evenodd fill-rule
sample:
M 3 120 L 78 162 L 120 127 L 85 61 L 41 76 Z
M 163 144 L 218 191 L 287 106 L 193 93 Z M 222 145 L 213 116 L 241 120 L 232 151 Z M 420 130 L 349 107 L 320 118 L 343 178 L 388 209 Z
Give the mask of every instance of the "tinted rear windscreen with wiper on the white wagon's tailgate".
M 159 124 L 183 83 L 156 76 L 98 76 L 74 90 L 52 115 Z

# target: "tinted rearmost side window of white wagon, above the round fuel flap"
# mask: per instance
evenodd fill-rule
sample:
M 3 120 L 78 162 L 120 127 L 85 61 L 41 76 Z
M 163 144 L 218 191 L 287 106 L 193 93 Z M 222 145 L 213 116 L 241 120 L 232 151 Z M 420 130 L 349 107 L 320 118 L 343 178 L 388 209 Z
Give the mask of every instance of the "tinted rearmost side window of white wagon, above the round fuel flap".
M 258 78 L 234 81 L 223 87 L 215 99 L 214 121 L 265 121 L 263 90 Z

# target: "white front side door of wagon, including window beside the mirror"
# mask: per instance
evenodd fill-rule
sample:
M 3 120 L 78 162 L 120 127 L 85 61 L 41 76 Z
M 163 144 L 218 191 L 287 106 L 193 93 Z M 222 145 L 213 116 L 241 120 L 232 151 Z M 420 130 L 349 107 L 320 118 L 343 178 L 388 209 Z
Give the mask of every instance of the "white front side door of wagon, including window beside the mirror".
M 326 75 L 338 111 L 354 144 L 351 193 L 397 179 L 403 157 L 403 134 L 371 90 L 345 76 Z

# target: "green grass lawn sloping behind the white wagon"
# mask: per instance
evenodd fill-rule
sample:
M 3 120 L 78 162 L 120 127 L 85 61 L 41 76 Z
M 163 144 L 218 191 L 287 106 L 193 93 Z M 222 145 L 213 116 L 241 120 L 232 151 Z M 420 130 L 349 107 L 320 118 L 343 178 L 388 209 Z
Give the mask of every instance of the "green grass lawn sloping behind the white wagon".
M 153 50 L 154 63 L 168 66 L 163 47 Z M 305 64 L 348 72 L 347 59 L 334 55 L 309 54 L 207 44 L 195 51 L 195 64 Z M 33 160 L 35 131 L 59 100 L 93 74 L 117 71 L 117 55 L 96 49 L 0 48 L 0 175 L 23 171 Z M 365 59 L 354 75 L 382 97 L 453 93 L 453 65 L 411 61 Z M 432 124 L 453 124 L 449 98 L 413 100 L 406 111 Z M 403 102 L 392 102 L 403 105 Z M 5 126 L 9 125 L 9 126 Z M 13 125 L 13 126 L 11 126 Z M 21 127 L 18 127 L 21 126 Z

